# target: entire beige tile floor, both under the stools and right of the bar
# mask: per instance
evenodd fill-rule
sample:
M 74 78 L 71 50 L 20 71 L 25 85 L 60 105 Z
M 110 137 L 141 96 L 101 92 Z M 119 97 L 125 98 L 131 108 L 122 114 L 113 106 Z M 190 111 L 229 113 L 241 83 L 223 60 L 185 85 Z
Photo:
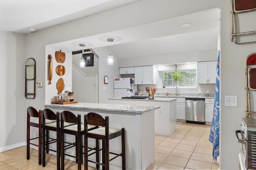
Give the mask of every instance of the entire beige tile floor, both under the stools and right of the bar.
M 218 170 L 218 162 L 212 160 L 209 131 L 209 125 L 182 123 L 170 136 L 155 135 L 155 161 L 147 170 Z M 45 167 L 38 165 L 38 151 L 34 149 L 27 160 L 25 146 L 0 153 L 0 170 L 56 170 L 56 156 L 46 154 L 46 162 Z M 65 170 L 76 169 L 76 162 L 65 160 Z

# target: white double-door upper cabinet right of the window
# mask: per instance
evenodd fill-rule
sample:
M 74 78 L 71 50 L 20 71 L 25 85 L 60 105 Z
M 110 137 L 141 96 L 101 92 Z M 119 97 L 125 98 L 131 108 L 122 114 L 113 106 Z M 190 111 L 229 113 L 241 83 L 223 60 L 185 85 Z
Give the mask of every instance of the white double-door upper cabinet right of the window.
M 215 84 L 217 61 L 197 63 L 198 84 Z

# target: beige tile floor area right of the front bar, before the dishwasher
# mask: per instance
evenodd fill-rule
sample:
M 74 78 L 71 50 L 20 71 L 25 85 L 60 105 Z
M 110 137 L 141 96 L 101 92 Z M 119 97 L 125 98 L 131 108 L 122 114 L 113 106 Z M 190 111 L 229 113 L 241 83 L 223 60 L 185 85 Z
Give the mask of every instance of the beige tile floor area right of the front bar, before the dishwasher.
M 155 135 L 155 161 L 147 170 L 218 170 L 209 133 L 210 125 L 177 123 L 170 136 Z

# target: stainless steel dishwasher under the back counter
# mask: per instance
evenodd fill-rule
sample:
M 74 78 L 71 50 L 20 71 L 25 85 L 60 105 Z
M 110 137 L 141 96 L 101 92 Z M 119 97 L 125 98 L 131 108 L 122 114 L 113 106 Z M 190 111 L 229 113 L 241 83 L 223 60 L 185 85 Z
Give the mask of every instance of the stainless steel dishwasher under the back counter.
M 205 125 L 204 98 L 186 98 L 186 123 Z

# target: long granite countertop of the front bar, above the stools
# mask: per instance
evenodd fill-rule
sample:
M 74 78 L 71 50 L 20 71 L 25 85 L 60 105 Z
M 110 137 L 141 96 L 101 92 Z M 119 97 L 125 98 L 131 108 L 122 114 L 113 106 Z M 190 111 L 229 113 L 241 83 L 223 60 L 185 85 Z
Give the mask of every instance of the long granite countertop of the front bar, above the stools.
M 45 104 L 44 107 L 60 107 L 88 110 L 104 110 L 104 111 L 119 111 L 129 113 L 145 113 L 154 109 L 159 109 L 160 106 L 136 106 L 123 104 L 98 104 L 98 103 L 80 103 L 77 104 Z

